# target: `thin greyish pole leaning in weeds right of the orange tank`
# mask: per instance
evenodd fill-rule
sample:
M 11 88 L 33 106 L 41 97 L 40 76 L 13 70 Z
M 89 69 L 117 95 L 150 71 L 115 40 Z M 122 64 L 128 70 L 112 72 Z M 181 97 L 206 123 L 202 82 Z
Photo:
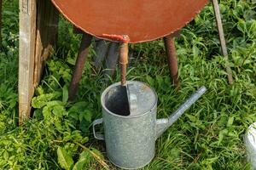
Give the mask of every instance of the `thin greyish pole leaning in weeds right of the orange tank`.
M 229 80 L 230 84 L 233 84 L 232 71 L 230 69 L 229 55 L 228 55 L 228 50 L 226 47 L 226 41 L 225 41 L 225 37 L 224 37 L 224 30 L 223 30 L 221 16 L 220 16 L 219 7 L 218 7 L 218 0 L 212 0 L 212 4 L 213 4 L 213 8 L 214 8 L 216 23 L 218 26 L 218 36 L 219 36 L 219 41 L 221 44 L 222 54 L 224 55 L 224 59 L 226 62 L 225 65 L 226 65 L 226 71 L 228 73 L 228 80 Z

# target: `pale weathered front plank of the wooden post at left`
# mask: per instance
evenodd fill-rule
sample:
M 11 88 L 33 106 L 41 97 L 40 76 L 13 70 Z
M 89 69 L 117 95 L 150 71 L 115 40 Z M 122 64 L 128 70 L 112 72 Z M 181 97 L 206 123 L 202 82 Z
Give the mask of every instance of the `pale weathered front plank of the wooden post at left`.
M 36 0 L 20 0 L 19 123 L 30 116 L 34 93 L 33 72 L 36 39 Z

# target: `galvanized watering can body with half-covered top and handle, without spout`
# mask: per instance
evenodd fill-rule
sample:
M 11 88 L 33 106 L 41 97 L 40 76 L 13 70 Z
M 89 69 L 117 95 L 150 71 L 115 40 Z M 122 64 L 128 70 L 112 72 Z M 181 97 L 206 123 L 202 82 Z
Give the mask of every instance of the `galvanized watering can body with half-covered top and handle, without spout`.
M 130 94 L 131 84 L 139 94 L 134 105 L 143 108 L 137 108 L 130 116 L 113 113 L 109 108 L 122 103 L 119 83 L 115 83 L 102 93 L 102 119 L 93 123 L 94 127 L 103 123 L 104 135 L 94 133 L 96 139 L 105 140 L 109 161 L 125 169 L 144 167 L 153 159 L 156 137 L 157 95 L 143 82 L 133 81 L 128 82 Z

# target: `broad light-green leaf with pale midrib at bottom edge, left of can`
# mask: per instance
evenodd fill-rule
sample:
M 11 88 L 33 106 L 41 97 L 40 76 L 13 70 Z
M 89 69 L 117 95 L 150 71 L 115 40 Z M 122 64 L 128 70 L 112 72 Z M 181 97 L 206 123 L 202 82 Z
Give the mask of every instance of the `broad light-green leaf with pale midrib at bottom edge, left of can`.
M 57 150 L 58 162 L 63 169 L 69 170 L 73 167 L 73 158 L 64 148 L 59 147 Z

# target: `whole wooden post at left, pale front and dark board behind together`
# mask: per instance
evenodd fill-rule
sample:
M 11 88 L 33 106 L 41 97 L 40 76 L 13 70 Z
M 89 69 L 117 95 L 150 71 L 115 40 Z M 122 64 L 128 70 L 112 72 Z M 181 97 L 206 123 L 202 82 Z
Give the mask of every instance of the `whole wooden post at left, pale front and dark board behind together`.
M 20 0 L 19 124 L 31 116 L 31 100 L 57 31 L 50 0 Z

